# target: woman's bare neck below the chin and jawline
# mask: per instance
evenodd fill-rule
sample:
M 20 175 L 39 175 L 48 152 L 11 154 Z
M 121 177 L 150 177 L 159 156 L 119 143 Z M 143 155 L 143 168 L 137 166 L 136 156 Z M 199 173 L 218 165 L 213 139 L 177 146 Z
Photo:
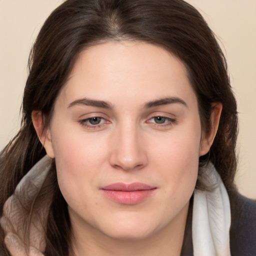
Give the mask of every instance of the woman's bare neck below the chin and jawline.
M 188 205 L 189 203 L 160 230 L 147 237 L 130 240 L 109 237 L 88 223 L 81 225 L 71 213 L 75 256 L 178 256 L 184 237 Z

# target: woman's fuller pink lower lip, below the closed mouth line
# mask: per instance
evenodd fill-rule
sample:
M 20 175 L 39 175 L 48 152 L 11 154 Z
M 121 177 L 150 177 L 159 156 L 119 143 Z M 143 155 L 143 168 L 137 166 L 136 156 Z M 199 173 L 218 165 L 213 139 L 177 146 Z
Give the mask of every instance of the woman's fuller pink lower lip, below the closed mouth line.
M 147 197 L 149 197 L 153 192 L 153 189 L 145 190 L 134 190 L 134 191 L 120 191 L 120 190 L 104 190 L 102 189 L 103 194 L 109 199 L 116 201 L 121 204 L 136 204 Z

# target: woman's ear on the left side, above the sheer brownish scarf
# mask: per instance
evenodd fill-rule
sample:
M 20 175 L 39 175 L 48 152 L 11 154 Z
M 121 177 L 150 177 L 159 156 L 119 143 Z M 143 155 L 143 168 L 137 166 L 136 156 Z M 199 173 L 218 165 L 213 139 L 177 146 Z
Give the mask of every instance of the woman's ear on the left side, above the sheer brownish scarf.
M 50 129 L 48 127 L 44 127 L 43 117 L 41 111 L 33 110 L 31 113 L 32 122 L 34 125 L 34 129 L 36 134 L 42 143 L 47 155 L 50 158 L 54 158 L 54 152 L 51 143 Z

